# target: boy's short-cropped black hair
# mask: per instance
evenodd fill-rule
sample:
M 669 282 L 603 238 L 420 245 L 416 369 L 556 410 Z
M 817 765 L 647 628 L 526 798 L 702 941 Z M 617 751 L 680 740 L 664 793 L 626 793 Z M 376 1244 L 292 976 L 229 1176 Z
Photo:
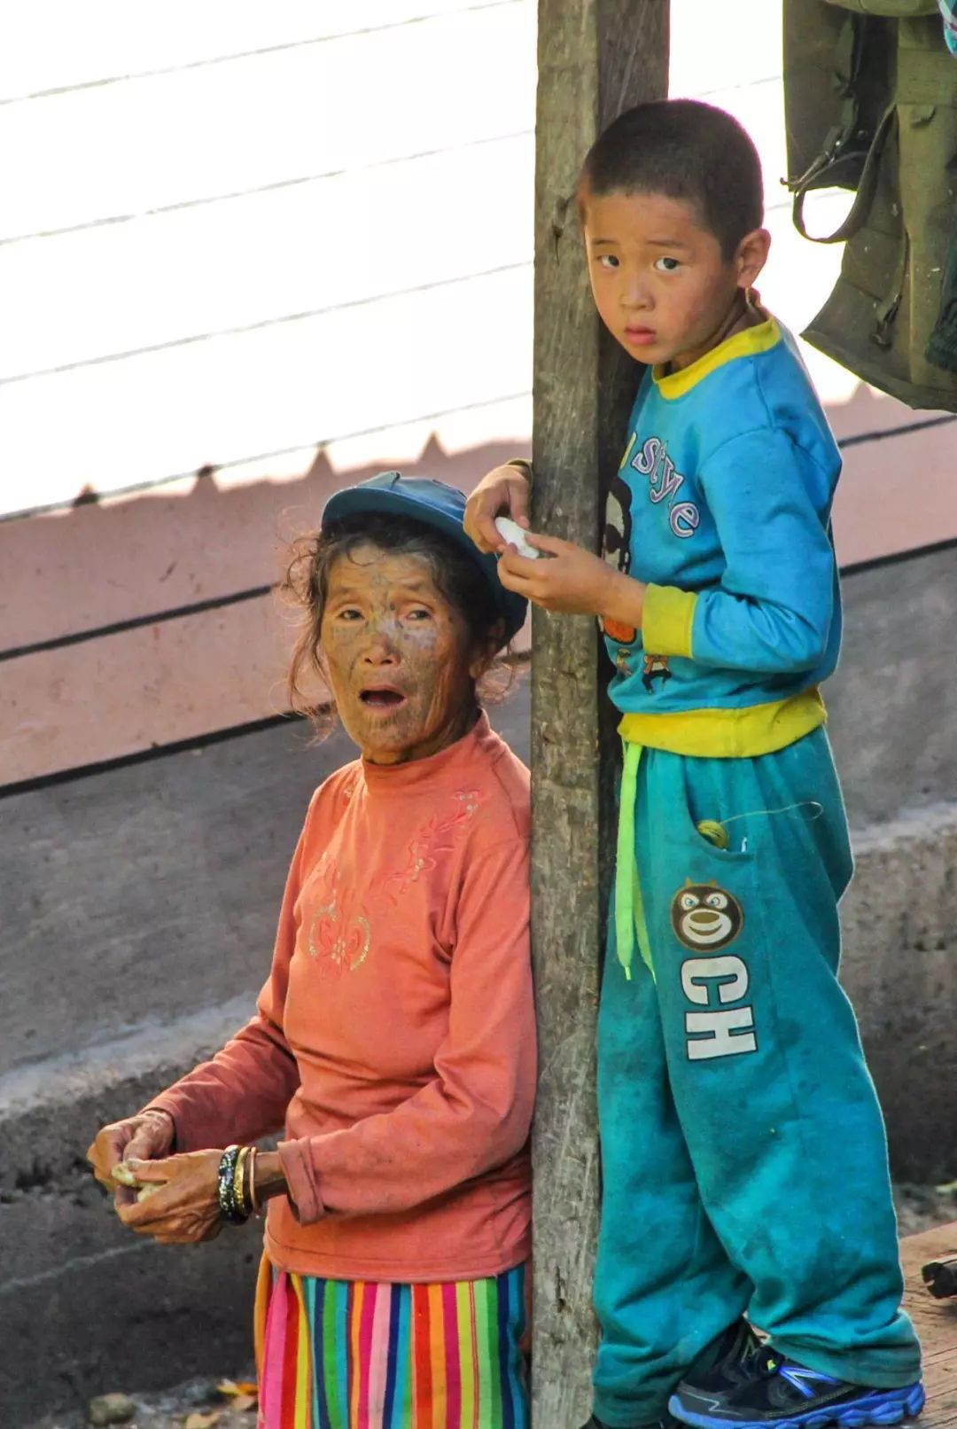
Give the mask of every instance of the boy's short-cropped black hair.
M 723 109 L 694 99 L 636 104 L 588 150 L 578 200 L 608 193 L 684 199 L 730 259 L 764 221 L 761 163 L 750 136 Z

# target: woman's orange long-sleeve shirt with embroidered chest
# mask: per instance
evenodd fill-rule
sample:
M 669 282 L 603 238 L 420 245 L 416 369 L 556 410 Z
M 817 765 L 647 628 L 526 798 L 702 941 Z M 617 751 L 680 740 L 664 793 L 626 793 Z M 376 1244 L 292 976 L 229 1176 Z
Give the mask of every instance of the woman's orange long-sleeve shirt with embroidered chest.
M 257 1016 L 156 1097 L 177 1150 L 286 1127 L 280 1269 L 497 1275 L 530 1253 L 528 775 L 483 716 L 316 790 Z

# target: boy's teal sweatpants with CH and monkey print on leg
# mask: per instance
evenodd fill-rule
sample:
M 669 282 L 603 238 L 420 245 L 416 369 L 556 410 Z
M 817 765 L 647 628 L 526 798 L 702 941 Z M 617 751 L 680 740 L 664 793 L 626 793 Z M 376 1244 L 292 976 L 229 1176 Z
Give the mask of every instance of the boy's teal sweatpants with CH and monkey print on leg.
M 596 1413 L 656 1419 L 741 1315 L 811 1369 L 911 1383 L 884 1126 L 837 982 L 851 855 L 824 730 L 757 759 L 646 750 L 636 859 L 654 976 L 633 949 L 626 979 L 611 917 Z

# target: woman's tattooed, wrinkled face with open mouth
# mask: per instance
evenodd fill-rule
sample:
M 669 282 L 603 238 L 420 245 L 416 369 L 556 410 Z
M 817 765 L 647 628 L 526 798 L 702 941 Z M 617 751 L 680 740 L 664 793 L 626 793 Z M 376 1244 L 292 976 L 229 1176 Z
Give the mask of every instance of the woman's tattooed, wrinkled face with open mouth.
M 373 763 L 424 759 L 474 723 L 487 656 L 426 556 L 363 542 L 336 557 L 320 642 L 339 716 Z

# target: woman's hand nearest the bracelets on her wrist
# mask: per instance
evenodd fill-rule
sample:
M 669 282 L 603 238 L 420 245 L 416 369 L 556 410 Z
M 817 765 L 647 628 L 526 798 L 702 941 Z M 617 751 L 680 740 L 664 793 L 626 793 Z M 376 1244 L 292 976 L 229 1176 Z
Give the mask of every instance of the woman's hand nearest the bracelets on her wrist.
M 219 1202 L 221 1159 L 221 1150 L 187 1152 L 166 1160 L 127 1156 L 126 1165 L 136 1175 L 140 1195 L 143 1186 L 157 1189 L 143 1200 L 117 1206 L 120 1220 L 137 1235 L 153 1236 L 161 1245 L 213 1240 L 224 1225 Z

